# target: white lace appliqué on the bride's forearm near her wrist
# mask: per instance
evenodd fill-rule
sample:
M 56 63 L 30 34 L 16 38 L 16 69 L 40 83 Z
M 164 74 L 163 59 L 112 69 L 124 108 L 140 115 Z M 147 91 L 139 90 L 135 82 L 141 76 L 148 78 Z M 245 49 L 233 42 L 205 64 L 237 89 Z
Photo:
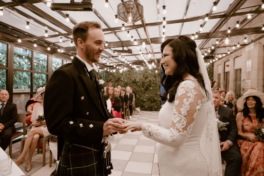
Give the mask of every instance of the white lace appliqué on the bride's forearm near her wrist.
M 150 123 L 143 123 L 141 125 L 141 129 L 142 129 L 144 136 L 146 136 L 147 138 L 150 138 L 150 139 L 157 138 L 159 140 L 163 140 L 164 138 L 164 133 L 165 133 L 164 129 L 156 125 L 153 125 Z

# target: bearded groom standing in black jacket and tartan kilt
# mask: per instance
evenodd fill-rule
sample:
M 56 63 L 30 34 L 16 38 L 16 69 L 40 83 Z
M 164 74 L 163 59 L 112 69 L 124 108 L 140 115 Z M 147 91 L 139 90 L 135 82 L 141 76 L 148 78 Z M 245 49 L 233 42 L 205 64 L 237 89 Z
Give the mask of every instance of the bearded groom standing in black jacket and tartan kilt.
M 81 22 L 72 28 L 72 35 L 77 55 L 52 74 L 44 115 L 49 132 L 57 136 L 57 175 L 94 176 L 105 169 L 98 168 L 98 161 L 106 135 L 122 131 L 124 120 L 106 110 L 102 77 L 94 64 L 104 51 L 101 24 Z

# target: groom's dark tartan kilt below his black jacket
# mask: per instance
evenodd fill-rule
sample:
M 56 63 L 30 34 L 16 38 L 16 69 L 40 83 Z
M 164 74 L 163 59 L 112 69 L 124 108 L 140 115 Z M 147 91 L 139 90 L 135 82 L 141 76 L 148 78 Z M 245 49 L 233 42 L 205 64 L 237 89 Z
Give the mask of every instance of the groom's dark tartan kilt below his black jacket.
M 98 161 L 103 149 L 103 145 L 104 142 L 101 143 L 101 148 L 97 152 L 88 148 L 70 145 L 68 142 L 66 142 L 62 149 L 57 175 L 98 175 Z M 91 146 L 90 148 L 93 147 Z

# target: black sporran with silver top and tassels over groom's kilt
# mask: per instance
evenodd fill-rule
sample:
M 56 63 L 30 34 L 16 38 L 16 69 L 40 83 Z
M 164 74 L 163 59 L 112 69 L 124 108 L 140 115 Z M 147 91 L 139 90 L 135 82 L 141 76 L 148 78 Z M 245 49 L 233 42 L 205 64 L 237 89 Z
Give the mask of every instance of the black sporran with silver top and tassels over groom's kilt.
M 113 169 L 111 161 L 111 144 L 109 141 L 106 141 L 98 161 L 98 176 L 110 175 L 112 173 L 111 169 Z

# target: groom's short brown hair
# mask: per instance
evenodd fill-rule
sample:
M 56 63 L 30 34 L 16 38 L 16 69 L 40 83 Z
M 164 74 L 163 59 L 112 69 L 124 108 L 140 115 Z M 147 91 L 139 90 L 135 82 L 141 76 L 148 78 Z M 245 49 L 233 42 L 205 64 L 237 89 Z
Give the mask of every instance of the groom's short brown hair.
M 101 23 L 97 21 L 84 21 L 76 24 L 72 28 L 72 38 L 76 47 L 78 46 L 77 43 L 78 38 L 82 39 L 84 42 L 87 40 L 88 30 L 90 28 L 102 29 L 102 26 Z

